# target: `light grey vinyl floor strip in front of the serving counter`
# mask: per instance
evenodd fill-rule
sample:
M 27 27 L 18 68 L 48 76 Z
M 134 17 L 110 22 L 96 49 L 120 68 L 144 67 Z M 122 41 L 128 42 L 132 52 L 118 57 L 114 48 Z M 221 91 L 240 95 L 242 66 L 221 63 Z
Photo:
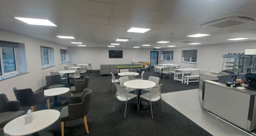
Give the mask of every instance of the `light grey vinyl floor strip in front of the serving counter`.
M 162 99 L 213 136 L 249 136 L 201 108 L 198 89 L 165 93 Z

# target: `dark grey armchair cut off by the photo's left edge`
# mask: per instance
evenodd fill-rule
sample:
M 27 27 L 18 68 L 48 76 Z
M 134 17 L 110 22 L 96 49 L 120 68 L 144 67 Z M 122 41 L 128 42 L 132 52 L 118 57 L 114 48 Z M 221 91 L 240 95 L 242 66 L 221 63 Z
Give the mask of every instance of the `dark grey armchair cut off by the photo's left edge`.
M 12 119 L 24 114 L 25 111 L 20 111 L 19 101 L 9 101 L 6 94 L 0 94 L 0 129 Z

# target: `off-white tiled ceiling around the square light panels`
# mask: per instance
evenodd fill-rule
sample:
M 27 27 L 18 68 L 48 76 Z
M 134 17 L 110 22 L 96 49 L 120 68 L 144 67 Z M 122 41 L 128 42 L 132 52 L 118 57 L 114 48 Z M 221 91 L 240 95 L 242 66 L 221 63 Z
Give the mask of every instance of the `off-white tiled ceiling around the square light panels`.
M 31 37 L 76 47 L 170 48 L 256 40 L 256 0 L 0 0 L 0 28 Z M 29 25 L 14 17 L 50 20 L 55 26 Z M 242 22 L 224 28 L 209 27 L 225 20 Z M 207 23 L 208 22 L 208 23 Z M 206 25 L 202 25 L 206 23 Z M 207 26 L 208 25 L 208 26 Z M 145 33 L 127 32 L 131 27 L 150 28 Z M 206 37 L 186 37 L 192 34 Z M 60 39 L 57 35 L 76 39 Z M 117 42 L 117 38 L 131 38 Z M 231 41 L 232 38 L 249 38 Z M 157 43 L 170 41 L 169 43 Z M 141 46 L 150 44 L 151 46 Z M 86 47 L 85 47 L 86 48 Z

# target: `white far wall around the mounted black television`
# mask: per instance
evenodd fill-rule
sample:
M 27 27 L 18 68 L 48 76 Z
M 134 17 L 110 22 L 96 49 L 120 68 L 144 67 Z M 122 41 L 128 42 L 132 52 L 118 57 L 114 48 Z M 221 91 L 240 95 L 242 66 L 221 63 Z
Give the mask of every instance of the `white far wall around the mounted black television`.
M 122 50 L 123 58 L 110 59 L 108 50 Z M 70 62 L 73 64 L 92 63 L 92 69 L 99 70 L 101 64 L 129 64 L 131 59 L 145 58 L 149 62 L 150 51 L 153 49 L 70 47 L 68 54 L 70 55 Z

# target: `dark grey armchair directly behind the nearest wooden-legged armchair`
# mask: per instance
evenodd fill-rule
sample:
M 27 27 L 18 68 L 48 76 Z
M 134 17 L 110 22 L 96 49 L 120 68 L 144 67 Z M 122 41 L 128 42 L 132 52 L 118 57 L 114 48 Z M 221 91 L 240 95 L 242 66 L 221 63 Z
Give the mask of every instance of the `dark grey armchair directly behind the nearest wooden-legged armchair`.
M 81 95 L 84 91 L 84 88 L 88 88 L 90 77 L 84 76 L 82 80 L 76 80 L 75 86 L 70 88 L 71 96 L 74 95 Z

